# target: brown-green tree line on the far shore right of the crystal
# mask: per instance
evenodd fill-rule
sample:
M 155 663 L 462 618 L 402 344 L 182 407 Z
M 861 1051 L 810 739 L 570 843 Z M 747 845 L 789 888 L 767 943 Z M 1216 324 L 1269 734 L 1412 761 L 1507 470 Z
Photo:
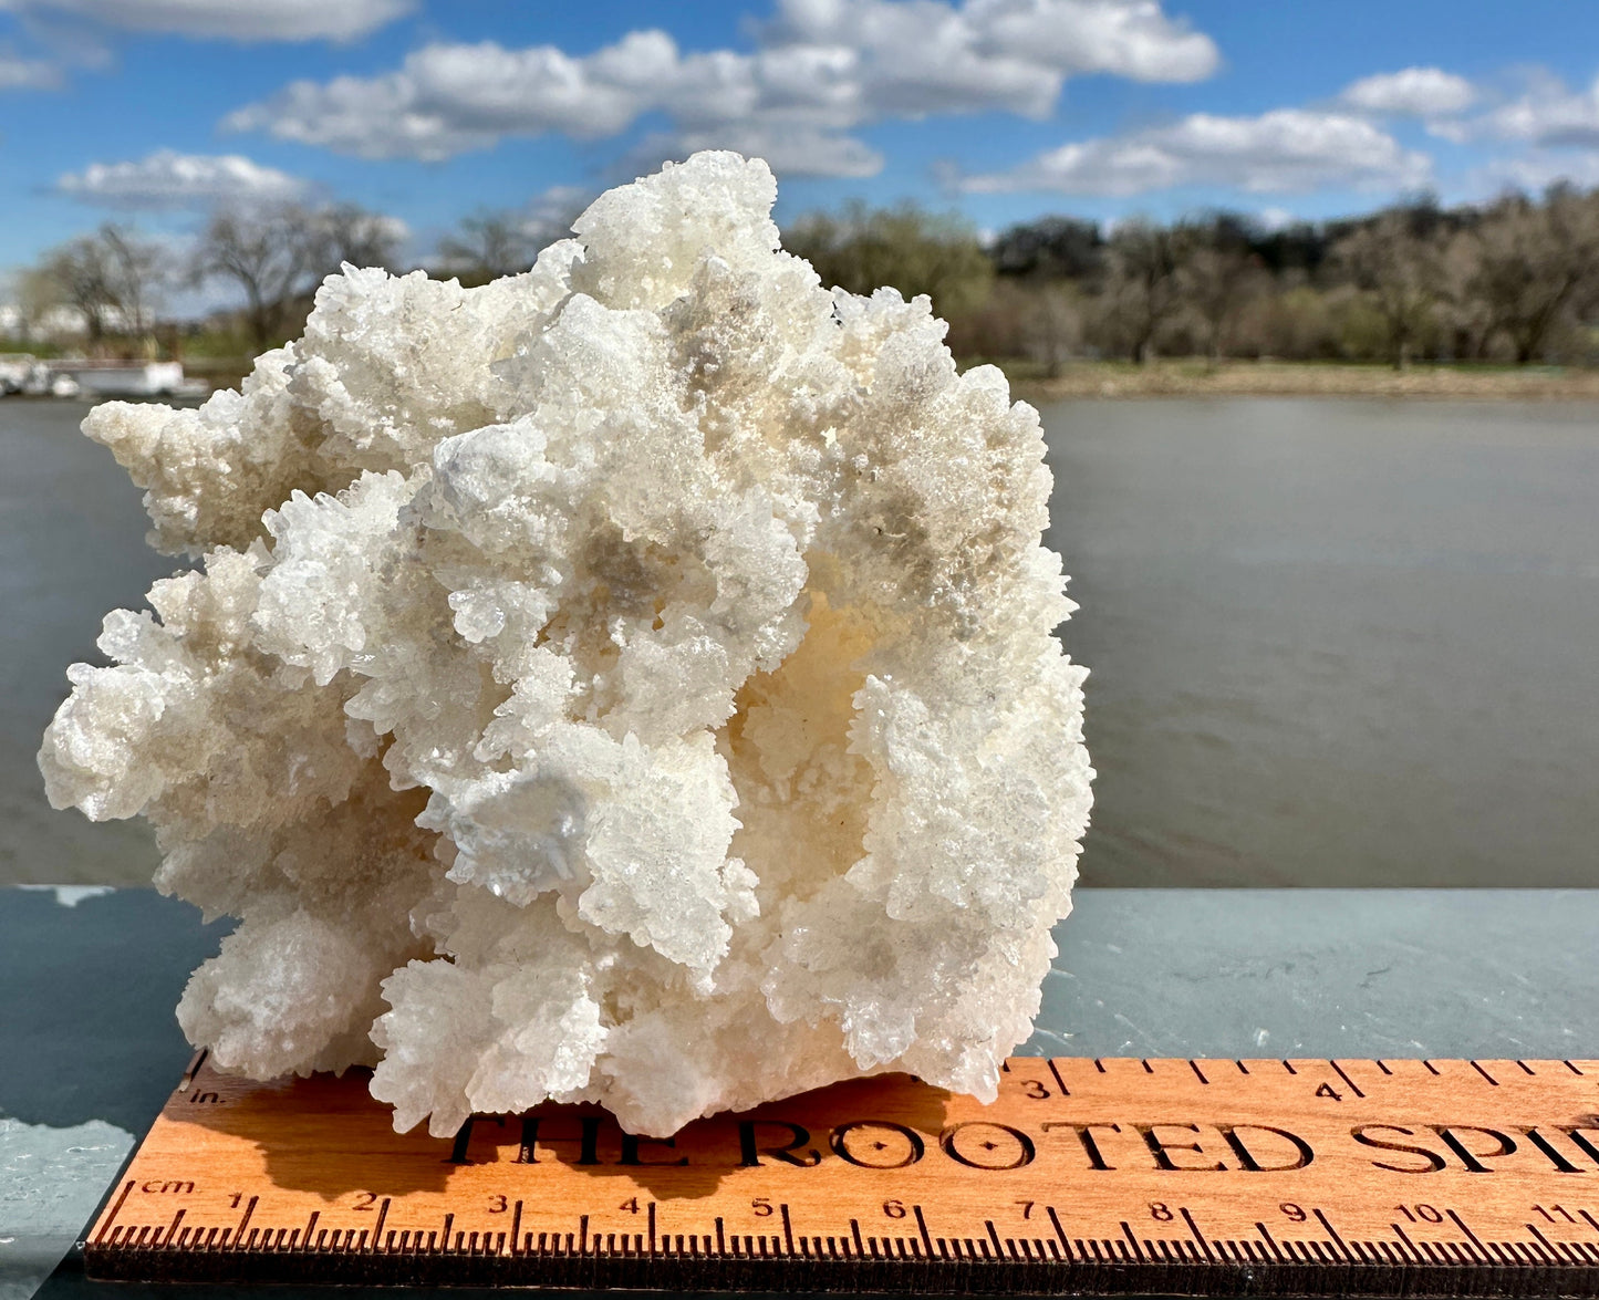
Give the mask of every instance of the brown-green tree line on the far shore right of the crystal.
M 1599 192 L 1268 229 L 1238 213 L 1175 222 L 1051 216 L 983 243 L 916 208 L 795 222 L 785 246 L 857 293 L 926 293 L 966 358 L 1154 355 L 1388 361 L 1599 361 Z

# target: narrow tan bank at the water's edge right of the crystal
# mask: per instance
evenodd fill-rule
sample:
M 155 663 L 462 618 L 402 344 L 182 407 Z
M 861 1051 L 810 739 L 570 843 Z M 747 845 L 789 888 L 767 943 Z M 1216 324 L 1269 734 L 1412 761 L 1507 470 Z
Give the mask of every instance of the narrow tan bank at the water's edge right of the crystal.
M 1489 401 L 1599 401 L 1599 369 L 1556 366 L 1436 366 L 1306 361 L 1071 361 L 1059 376 L 1001 361 L 1015 397 L 1035 405 L 1068 398 L 1148 397 L 1394 397 Z

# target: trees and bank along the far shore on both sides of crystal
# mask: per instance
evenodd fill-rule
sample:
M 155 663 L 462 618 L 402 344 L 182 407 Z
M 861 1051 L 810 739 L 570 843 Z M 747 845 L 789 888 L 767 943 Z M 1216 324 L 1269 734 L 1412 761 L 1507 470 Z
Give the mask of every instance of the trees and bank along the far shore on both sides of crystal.
M 467 217 L 424 259 L 481 285 L 558 232 Z M 235 384 L 299 334 L 342 262 L 400 265 L 400 232 L 353 205 L 221 211 L 177 264 L 109 224 L 50 249 L 16 286 L 0 350 L 176 358 Z M 1599 398 L 1599 190 L 1556 185 L 1444 208 L 1418 197 L 1327 222 L 1236 213 L 1169 224 L 1051 216 L 982 238 L 916 206 L 812 213 L 784 230 L 823 283 L 927 294 L 963 366 L 1001 366 L 1030 400 L 1158 395 Z M 240 305 L 163 318 L 177 285 Z

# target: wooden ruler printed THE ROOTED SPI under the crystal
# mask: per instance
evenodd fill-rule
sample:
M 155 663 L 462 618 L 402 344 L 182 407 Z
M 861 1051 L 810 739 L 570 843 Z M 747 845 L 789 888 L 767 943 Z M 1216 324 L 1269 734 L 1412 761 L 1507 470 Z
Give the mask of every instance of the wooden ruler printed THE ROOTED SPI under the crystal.
M 1599 1062 L 1015 1057 L 675 1140 L 598 1108 L 398 1135 L 366 1078 L 203 1059 L 91 1276 L 728 1290 L 1599 1295 Z

